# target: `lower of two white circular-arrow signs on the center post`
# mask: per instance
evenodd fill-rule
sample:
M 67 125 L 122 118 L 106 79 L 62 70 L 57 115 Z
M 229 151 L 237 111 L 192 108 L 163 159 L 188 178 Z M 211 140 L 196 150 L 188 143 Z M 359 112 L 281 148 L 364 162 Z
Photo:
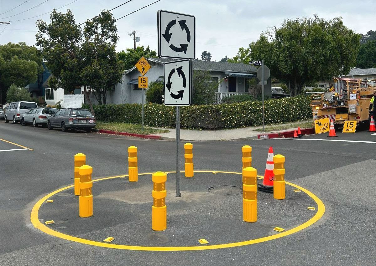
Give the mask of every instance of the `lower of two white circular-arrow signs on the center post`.
M 192 103 L 192 60 L 164 63 L 165 105 L 183 106 Z

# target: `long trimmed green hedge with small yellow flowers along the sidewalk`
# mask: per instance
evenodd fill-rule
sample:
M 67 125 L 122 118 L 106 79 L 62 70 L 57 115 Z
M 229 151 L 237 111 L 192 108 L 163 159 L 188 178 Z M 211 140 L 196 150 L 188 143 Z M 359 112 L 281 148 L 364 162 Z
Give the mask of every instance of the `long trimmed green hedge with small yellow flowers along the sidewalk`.
M 265 124 L 312 118 L 309 97 L 288 97 L 265 101 Z M 88 109 L 87 104 L 83 108 Z M 141 123 L 141 104 L 94 106 L 99 121 Z M 149 103 L 144 106 L 144 123 L 151 127 L 175 127 L 175 107 Z M 262 124 L 262 103 L 245 101 L 232 104 L 193 105 L 180 108 L 183 128 L 220 129 Z

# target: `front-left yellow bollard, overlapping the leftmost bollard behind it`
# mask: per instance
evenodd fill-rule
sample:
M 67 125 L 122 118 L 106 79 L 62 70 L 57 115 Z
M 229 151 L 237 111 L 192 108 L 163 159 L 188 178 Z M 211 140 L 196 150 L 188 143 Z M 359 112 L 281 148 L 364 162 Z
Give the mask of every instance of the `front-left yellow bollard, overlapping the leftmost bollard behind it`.
M 91 192 L 93 168 L 83 165 L 78 171 L 80 174 L 79 215 L 80 217 L 90 217 L 93 215 L 93 195 Z

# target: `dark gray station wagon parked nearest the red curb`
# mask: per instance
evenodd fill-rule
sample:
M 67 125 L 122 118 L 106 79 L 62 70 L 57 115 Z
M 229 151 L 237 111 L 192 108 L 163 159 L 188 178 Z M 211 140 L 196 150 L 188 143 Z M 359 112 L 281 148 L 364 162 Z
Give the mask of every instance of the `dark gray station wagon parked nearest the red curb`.
M 61 127 L 63 132 L 70 129 L 81 129 L 90 132 L 96 126 L 96 119 L 87 109 L 64 108 L 47 119 L 47 127 L 52 130 L 54 127 Z

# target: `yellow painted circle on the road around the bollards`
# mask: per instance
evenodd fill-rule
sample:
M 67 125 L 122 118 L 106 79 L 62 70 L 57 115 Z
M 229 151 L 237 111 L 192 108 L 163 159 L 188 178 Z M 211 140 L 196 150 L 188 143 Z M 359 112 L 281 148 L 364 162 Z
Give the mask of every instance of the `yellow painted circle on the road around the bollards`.
M 175 173 L 175 172 L 176 171 L 171 171 L 171 172 L 168 172 L 168 173 Z M 213 172 L 213 170 L 211 170 L 211 171 L 194 171 L 194 172 L 196 172 L 196 173 L 197 172 L 211 173 L 211 172 Z M 225 171 L 217 171 L 217 172 L 218 173 L 224 173 L 224 174 L 242 175 L 242 173 L 240 173 L 240 172 L 225 172 Z M 154 172 L 144 173 L 144 174 L 139 174 L 139 175 L 148 175 L 148 174 L 154 174 Z M 117 176 L 114 176 L 114 177 L 99 178 L 99 179 L 92 180 L 92 181 L 98 182 L 98 181 L 101 181 L 101 180 L 107 180 L 107 179 L 112 179 L 112 178 L 120 178 L 120 177 L 125 177 L 125 176 L 128 176 L 128 175 L 117 175 Z M 261 177 L 261 176 L 258 175 L 258 177 Z M 64 234 L 64 233 L 60 233 L 58 231 L 52 230 L 51 228 L 42 224 L 39 221 L 38 212 L 39 212 L 39 208 L 42 206 L 44 201 L 46 201 L 48 198 L 52 197 L 56 193 L 59 193 L 59 192 L 62 192 L 64 190 L 67 190 L 67 189 L 74 187 L 74 185 L 62 187 L 61 189 L 55 190 L 55 191 L 45 195 L 43 198 L 41 198 L 33 206 L 33 209 L 31 210 L 30 221 L 32 222 L 32 224 L 35 228 L 37 228 L 37 229 L 41 230 L 42 232 L 49 234 L 51 236 L 59 237 L 61 239 L 70 240 L 70 241 L 74 241 L 74 242 L 82 243 L 82 244 L 86 244 L 86 245 L 100 246 L 100 247 L 103 247 L 103 248 L 115 248 L 115 249 L 138 250 L 138 251 L 192 251 L 192 250 L 208 250 L 208 249 L 219 249 L 219 248 L 233 248 L 233 247 L 237 247 L 237 246 L 246 246 L 246 245 L 252 245 L 252 244 L 256 244 L 256 243 L 262 243 L 262 242 L 265 242 L 265 241 L 269 241 L 269 240 L 277 239 L 277 238 L 280 238 L 280 237 L 288 236 L 290 234 L 294 234 L 294 233 L 296 233 L 300 230 L 303 230 L 303 229 L 311 226 L 312 224 L 317 222 L 324 215 L 324 212 L 325 212 L 324 203 L 314 193 L 310 192 L 309 190 L 307 190 L 303 187 L 300 187 L 296 184 L 293 184 L 293 183 L 290 183 L 290 182 L 287 182 L 287 181 L 286 181 L 286 184 L 302 190 L 303 192 L 305 192 L 308 196 L 310 196 L 315 201 L 315 203 L 317 204 L 317 212 L 315 213 L 315 215 L 311 219 L 309 219 L 308 221 L 304 222 L 303 224 L 298 225 L 297 227 L 291 228 L 290 230 L 283 231 L 280 234 L 273 234 L 273 235 L 270 235 L 270 236 L 260 237 L 260 238 L 251 239 L 251 240 L 245 240 L 245 241 L 241 241 L 241 242 L 233 242 L 233 243 L 217 244 L 217 245 L 205 245 L 205 246 L 132 246 L 132 245 L 117 245 L 117 244 L 97 242 L 97 241 L 94 241 L 94 240 L 88 240 L 88 239 L 82 239 L 82 238 L 75 237 L 75 236 L 70 236 L 68 234 Z

